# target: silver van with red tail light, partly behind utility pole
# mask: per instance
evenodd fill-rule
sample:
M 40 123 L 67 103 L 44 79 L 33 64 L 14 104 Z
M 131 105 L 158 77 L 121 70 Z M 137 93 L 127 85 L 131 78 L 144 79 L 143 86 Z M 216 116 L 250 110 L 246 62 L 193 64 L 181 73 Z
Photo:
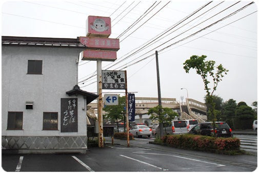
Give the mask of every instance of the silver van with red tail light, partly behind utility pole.
M 186 120 L 172 121 L 171 123 L 165 123 L 163 126 L 164 135 L 178 135 L 186 134 L 187 131 L 187 122 Z M 155 130 L 155 137 L 160 135 L 160 128 L 157 127 Z

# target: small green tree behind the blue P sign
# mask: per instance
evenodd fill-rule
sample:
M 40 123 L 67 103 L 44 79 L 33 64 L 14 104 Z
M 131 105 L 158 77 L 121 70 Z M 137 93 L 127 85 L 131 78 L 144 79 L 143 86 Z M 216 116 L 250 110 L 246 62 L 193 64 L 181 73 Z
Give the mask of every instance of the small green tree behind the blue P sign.
M 125 96 L 118 97 L 118 105 L 107 105 L 104 107 L 105 115 L 109 120 L 115 120 L 118 130 L 118 120 L 124 119 L 124 107 L 126 106 Z

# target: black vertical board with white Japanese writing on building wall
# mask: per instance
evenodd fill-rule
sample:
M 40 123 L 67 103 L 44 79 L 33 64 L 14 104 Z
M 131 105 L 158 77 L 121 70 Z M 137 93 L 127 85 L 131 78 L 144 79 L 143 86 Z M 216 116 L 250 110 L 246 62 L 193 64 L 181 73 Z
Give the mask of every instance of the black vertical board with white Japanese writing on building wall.
M 61 132 L 78 132 L 77 98 L 61 98 Z

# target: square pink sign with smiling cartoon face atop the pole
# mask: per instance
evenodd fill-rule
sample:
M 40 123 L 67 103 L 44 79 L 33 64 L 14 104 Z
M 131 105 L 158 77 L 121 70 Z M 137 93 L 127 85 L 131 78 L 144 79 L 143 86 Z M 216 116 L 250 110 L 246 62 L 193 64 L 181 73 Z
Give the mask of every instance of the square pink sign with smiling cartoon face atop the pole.
M 88 16 L 86 25 L 87 36 L 108 38 L 111 35 L 110 17 Z

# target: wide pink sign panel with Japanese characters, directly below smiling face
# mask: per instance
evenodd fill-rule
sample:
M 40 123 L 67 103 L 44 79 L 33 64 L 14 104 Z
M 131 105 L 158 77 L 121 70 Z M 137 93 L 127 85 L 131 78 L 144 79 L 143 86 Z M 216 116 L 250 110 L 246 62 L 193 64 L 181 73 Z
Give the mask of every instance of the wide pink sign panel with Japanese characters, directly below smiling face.
M 90 49 L 119 50 L 119 39 L 115 38 L 79 37 L 79 41 Z

